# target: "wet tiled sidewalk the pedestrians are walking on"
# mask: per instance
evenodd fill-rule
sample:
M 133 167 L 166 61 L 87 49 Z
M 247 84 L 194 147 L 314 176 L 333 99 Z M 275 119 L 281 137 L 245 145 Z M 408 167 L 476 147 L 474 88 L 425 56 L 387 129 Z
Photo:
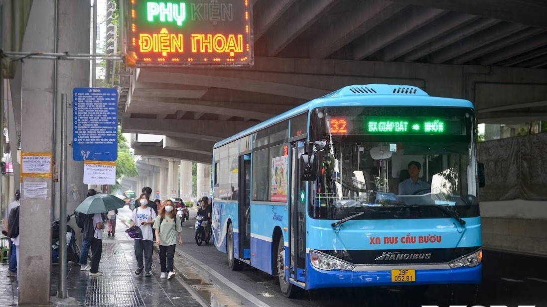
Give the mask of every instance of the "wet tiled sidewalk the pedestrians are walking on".
M 157 247 L 154 246 L 153 259 L 156 267 L 152 268 L 152 276 L 135 275 L 137 262 L 133 250 L 133 239 L 126 233 L 127 226 L 124 216 L 118 216 L 116 235 L 108 237 L 103 232 L 102 256 L 99 271 L 102 276 L 90 277 L 89 271 L 80 271 L 77 264 L 67 264 L 68 296 L 77 300 L 78 306 L 209 306 L 205 300 L 179 276 L 171 280 L 160 279 L 160 261 Z M 88 262 L 89 263 L 89 262 Z M 56 296 L 59 266 L 51 269 L 51 296 Z M 179 275 L 180 271 L 175 268 Z M 10 282 L 6 276 L 8 263 L 0 263 L 0 306 L 16 306 L 18 290 L 16 281 Z M 12 287 L 13 285 L 13 287 Z M 55 298 L 51 299 L 51 302 Z M 69 302 L 69 300 L 66 300 Z M 59 305 L 66 306 L 65 301 Z M 71 304 L 73 305 L 73 304 Z

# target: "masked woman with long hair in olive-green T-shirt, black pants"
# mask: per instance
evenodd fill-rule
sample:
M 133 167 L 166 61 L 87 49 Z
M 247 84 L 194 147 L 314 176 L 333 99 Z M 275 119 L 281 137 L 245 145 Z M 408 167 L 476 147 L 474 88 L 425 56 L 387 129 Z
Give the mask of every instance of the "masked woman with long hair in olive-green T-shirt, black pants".
M 154 222 L 156 232 L 156 243 L 160 247 L 160 278 L 171 279 L 173 273 L 174 249 L 177 244 L 182 245 L 181 221 L 174 211 L 174 204 L 171 199 L 165 200 L 165 205 L 160 209 L 158 219 Z

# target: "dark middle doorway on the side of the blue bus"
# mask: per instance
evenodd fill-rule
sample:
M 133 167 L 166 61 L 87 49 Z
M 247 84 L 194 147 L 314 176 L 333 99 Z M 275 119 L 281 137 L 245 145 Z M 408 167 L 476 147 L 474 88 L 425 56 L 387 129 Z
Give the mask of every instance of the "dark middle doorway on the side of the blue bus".
M 238 215 L 239 258 L 251 259 L 251 155 L 239 158 Z

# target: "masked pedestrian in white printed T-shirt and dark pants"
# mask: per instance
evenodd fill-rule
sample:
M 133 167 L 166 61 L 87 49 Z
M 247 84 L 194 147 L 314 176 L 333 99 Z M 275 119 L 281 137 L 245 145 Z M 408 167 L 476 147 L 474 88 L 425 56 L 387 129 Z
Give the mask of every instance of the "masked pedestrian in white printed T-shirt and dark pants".
M 154 245 L 152 225 L 154 225 L 156 219 L 156 212 L 148 206 L 149 201 L 148 194 L 142 193 L 139 197 L 141 206 L 133 210 L 130 225 L 137 225 L 142 231 L 142 238 L 135 239 L 135 257 L 137 258 L 135 274 L 141 274 L 144 269 L 146 271 L 144 276 L 150 276 L 150 271 L 152 271 L 152 246 Z

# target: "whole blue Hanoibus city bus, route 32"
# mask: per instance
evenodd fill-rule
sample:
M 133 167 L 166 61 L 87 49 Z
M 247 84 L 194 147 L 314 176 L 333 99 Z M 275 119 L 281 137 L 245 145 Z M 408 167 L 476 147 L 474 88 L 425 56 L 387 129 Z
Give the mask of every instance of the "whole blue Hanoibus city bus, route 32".
M 467 100 L 387 84 L 261 122 L 214 145 L 214 244 L 232 270 L 272 274 L 289 298 L 479 284 L 475 127 Z

